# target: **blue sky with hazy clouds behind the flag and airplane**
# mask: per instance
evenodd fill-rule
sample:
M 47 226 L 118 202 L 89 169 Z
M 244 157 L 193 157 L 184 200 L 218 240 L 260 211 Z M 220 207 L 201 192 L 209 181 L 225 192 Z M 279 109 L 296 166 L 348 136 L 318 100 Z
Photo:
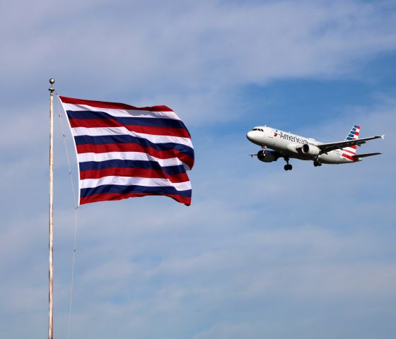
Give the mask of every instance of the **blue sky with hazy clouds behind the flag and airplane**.
M 0 27 L 1 337 L 47 337 L 51 77 L 59 95 L 168 105 L 196 154 L 190 207 L 79 209 L 71 338 L 395 337 L 396 1 L 8 1 Z M 62 339 L 75 213 L 54 107 Z M 359 151 L 384 154 L 285 172 L 248 156 L 263 124 L 329 142 L 358 124 L 385 134 Z

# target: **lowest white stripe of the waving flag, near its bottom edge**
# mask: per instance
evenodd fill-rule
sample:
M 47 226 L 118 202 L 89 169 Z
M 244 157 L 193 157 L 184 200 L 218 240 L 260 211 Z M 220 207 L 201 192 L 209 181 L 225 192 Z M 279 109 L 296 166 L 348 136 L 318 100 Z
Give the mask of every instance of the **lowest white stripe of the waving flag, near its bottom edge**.
M 190 182 L 175 182 L 172 183 L 168 179 L 161 178 L 141 178 L 141 177 L 115 177 L 108 176 L 99 179 L 83 179 L 80 180 L 80 188 L 88 189 L 101 185 L 121 185 L 121 186 L 173 186 L 177 191 L 187 191 L 191 189 Z

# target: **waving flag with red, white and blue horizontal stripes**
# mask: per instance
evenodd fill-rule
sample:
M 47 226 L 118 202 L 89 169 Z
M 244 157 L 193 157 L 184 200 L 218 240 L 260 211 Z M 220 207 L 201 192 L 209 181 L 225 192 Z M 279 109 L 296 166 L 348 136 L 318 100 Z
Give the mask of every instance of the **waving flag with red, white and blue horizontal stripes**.
M 166 106 L 59 96 L 76 145 L 79 204 L 163 195 L 190 206 L 194 149 Z

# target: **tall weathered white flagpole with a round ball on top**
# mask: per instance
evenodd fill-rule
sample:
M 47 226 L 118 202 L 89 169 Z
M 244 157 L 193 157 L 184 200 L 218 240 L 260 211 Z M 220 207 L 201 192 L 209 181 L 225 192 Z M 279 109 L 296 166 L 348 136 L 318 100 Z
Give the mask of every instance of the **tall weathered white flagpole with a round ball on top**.
M 50 91 L 50 268 L 48 273 L 49 278 L 49 292 L 48 292 L 48 302 L 49 302 L 49 316 L 48 316 L 48 339 L 53 339 L 53 317 L 54 317 L 54 307 L 52 302 L 53 285 L 54 285 L 54 264 L 53 264 L 53 252 L 54 252 L 54 85 L 55 80 L 50 79 L 51 87 L 48 88 Z

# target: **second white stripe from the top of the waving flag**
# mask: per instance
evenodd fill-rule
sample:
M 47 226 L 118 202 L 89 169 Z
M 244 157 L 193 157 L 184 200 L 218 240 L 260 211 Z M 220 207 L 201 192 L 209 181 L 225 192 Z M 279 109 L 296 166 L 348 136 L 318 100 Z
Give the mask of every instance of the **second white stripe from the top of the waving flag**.
M 74 127 L 71 129 L 74 136 L 135 136 L 136 138 L 144 138 L 152 143 L 180 143 L 192 148 L 190 138 L 182 138 L 180 136 L 157 136 L 154 134 L 136 133 L 129 131 L 125 127 Z

